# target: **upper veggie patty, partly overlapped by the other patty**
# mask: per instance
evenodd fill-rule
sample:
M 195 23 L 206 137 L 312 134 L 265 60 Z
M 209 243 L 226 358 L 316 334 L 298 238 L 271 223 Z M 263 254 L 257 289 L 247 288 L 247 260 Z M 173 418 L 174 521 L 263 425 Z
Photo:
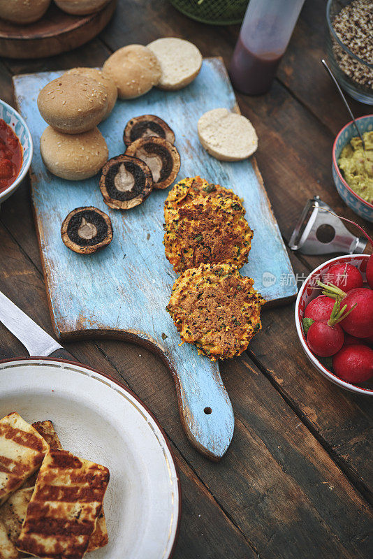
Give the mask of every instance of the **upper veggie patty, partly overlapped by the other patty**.
M 166 258 L 176 273 L 200 263 L 222 262 L 241 268 L 254 235 L 241 203 L 211 196 L 182 205 L 165 229 Z

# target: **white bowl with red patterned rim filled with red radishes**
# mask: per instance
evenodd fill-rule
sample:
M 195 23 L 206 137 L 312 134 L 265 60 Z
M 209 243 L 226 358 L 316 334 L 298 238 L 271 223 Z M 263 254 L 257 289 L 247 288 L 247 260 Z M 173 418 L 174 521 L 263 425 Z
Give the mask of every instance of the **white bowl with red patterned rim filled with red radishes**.
M 373 395 L 373 255 L 337 256 L 309 274 L 298 293 L 295 325 L 321 375 Z

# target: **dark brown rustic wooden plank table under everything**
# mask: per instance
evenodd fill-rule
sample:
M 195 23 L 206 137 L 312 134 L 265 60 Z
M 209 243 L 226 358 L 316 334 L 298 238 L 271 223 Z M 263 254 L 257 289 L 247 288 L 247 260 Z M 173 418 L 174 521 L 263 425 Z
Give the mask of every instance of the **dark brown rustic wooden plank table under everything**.
M 166 0 L 122 0 L 109 26 L 85 47 L 50 59 L 0 61 L 0 97 L 13 104 L 14 74 L 99 66 L 127 43 L 161 36 L 189 39 L 204 56 L 228 64 L 238 29 L 193 22 Z M 359 221 L 332 182 L 332 141 L 349 118 L 320 64 L 325 38 L 325 1 L 306 1 L 271 91 L 237 96 L 258 131 L 258 164 L 286 241 L 314 194 Z M 356 115 L 371 112 L 351 104 Z M 0 235 L 0 290 L 52 334 L 27 182 L 1 206 Z M 322 262 L 291 259 L 301 277 Z M 82 363 L 129 386 L 166 431 L 183 494 L 175 559 L 373 556 L 372 401 L 339 390 L 309 365 L 293 307 L 264 312 L 263 331 L 249 351 L 221 365 L 235 434 L 220 463 L 186 440 L 173 380 L 158 358 L 124 342 L 67 346 Z M 1 325 L 0 354 L 25 355 Z

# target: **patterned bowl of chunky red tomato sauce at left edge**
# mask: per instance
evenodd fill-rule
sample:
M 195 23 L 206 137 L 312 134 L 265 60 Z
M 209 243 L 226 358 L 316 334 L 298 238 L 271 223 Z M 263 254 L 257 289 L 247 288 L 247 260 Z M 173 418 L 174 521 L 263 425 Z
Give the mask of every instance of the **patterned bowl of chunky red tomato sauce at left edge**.
M 26 122 L 0 99 L 0 205 L 13 194 L 31 164 L 32 139 Z

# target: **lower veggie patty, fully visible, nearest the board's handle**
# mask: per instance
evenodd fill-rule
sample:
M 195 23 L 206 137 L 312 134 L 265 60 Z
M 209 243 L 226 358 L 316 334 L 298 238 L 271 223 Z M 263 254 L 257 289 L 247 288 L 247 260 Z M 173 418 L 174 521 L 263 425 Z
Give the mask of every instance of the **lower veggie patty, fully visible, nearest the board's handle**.
M 198 347 L 211 361 L 242 354 L 261 330 L 265 300 L 228 264 L 200 264 L 175 282 L 166 310 L 183 342 Z

